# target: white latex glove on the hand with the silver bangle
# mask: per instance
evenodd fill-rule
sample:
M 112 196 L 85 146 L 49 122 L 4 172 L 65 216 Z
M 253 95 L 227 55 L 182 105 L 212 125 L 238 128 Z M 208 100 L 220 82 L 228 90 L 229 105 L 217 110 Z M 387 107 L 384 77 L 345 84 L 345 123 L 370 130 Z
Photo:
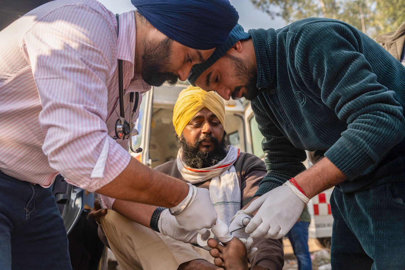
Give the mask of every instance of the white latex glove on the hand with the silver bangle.
M 211 228 L 217 220 L 217 212 L 212 205 L 209 190 L 192 187 L 194 196 L 183 212 L 177 214 L 175 218 L 183 229 L 205 234 L 206 228 Z

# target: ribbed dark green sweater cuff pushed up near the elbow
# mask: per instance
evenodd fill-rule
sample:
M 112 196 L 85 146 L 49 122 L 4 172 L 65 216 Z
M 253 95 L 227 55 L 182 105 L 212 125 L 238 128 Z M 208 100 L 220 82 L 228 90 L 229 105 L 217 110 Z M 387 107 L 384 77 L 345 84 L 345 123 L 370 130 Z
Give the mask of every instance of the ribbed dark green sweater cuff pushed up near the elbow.
M 325 156 L 345 174 L 349 180 L 357 178 L 374 162 L 360 146 L 347 137 L 340 137 Z

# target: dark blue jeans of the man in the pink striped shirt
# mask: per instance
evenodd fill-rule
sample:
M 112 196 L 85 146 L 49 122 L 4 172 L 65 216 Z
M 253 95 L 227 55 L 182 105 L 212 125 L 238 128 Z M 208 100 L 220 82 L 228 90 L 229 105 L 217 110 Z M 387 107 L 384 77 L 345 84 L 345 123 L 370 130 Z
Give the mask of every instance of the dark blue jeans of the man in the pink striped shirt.
M 71 270 L 68 238 L 51 188 L 0 172 L 0 268 Z

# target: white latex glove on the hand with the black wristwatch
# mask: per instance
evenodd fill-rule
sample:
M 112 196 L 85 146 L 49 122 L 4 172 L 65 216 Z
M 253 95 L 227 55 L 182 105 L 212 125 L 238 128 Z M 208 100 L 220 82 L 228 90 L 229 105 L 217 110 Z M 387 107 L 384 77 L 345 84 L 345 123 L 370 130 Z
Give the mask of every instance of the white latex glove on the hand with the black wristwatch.
M 175 216 L 170 214 L 168 209 L 160 213 L 158 228 L 161 234 L 170 236 L 175 240 L 185 243 L 197 243 L 197 232 L 183 229 L 179 223 L 177 223 Z

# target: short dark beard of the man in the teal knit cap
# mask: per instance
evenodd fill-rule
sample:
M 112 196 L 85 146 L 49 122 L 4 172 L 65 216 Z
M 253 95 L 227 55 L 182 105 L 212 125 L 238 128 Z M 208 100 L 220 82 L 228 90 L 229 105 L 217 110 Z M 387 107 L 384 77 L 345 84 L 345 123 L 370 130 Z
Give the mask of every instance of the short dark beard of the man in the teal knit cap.
M 243 97 L 249 101 L 254 100 L 259 94 L 259 90 L 256 87 L 257 70 L 252 64 L 242 60 L 241 58 L 230 54 L 224 54 L 224 56 L 232 60 L 234 66 L 234 76 L 242 83 L 234 88 L 231 93 L 231 98 L 237 99 L 239 90 L 244 87 L 246 88 L 246 93 L 243 94 Z

